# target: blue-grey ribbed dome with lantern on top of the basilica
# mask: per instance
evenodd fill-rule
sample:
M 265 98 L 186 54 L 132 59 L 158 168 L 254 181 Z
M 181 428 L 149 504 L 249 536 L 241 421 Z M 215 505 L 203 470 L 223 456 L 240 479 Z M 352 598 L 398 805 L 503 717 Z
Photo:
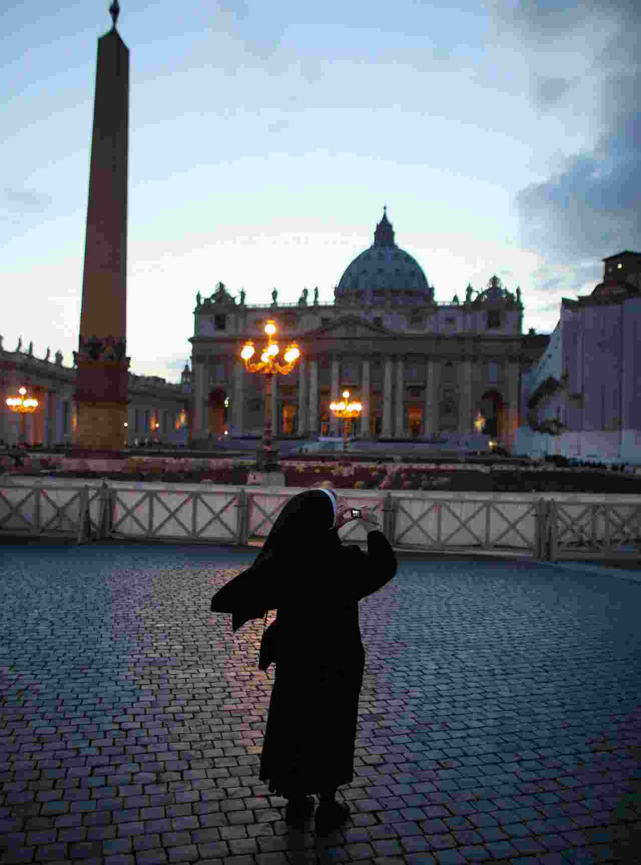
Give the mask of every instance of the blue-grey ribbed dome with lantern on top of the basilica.
M 394 304 L 416 306 L 433 301 L 420 264 L 394 243 L 394 230 L 387 208 L 376 226 L 374 243 L 356 256 L 334 290 L 337 304 L 382 305 L 389 298 Z

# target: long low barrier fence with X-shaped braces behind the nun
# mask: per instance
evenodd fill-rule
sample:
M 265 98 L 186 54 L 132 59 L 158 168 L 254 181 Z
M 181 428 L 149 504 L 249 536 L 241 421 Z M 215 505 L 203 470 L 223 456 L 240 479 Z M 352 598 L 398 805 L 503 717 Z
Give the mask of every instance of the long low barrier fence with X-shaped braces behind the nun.
M 107 538 L 245 545 L 265 538 L 298 488 L 174 490 L 45 482 L 0 484 L 0 537 Z M 521 553 L 537 559 L 641 558 L 641 497 L 593 502 L 501 496 L 448 497 L 341 490 L 351 506 L 381 515 L 394 548 Z M 364 543 L 367 527 L 349 522 L 343 541 Z

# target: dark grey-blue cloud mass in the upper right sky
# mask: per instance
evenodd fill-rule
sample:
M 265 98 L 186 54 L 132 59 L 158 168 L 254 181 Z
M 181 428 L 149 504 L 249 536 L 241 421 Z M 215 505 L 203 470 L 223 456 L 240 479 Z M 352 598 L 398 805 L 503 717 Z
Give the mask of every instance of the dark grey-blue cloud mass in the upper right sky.
M 531 52 L 532 62 L 541 65 L 548 65 L 554 51 L 562 59 L 564 42 L 569 57 L 574 37 L 585 35 L 595 84 L 593 99 L 588 102 L 586 96 L 585 105 L 577 97 L 560 106 L 574 79 L 534 73 L 538 106 L 556 106 L 560 122 L 570 128 L 577 117 L 592 112 L 598 133 L 592 145 L 567 157 L 546 180 L 517 193 L 523 245 L 547 261 L 576 263 L 638 248 L 641 66 L 636 36 L 641 5 L 636 0 L 587 0 L 555 8 L 520 0 L 512 10 L 502 4 L 497 16 Z

